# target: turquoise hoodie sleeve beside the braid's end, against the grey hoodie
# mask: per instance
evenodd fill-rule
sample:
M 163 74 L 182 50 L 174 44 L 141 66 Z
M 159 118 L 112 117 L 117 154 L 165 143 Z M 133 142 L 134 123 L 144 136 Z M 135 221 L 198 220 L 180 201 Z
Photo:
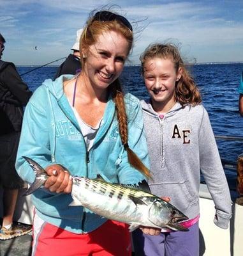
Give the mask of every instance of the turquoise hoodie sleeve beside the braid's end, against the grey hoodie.
M 130 111 L 130 112 L 129 112 Z M 144 118 L 139 101 L 133 109 L 128 109 L 128 145 L 136 156 L 149 168 L 149 155 L 144 132 Z M 119 164 L 119 182 L 122 184 L 135 184 L 146 179 L 145 176 L 133 168 L 128 161 L 128 154 L 122 147 L 121 163 Z

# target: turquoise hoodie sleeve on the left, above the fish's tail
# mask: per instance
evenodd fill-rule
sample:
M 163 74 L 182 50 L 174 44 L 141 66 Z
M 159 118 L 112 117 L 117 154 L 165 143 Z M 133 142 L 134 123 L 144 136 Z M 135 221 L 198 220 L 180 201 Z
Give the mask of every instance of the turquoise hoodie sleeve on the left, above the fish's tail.
M 48 98 L 41 87 L 43 86 L 36 90 L 26 106 L 15 164 L 18 175 L 29 184 L 34 182 L 35 174 L 23 156 L 33 159 L 43 168 L 51 164 L 48 131 L 50 124 L 48 124 L 48 113 L 45 108 L 47 104 L 45 99 Z

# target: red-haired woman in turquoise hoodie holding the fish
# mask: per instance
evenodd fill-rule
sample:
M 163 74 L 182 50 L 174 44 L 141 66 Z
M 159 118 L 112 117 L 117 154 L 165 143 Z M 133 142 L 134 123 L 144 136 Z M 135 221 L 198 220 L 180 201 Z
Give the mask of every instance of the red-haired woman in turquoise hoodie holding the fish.
M 142 108 L 118 79 L 132 44 L 125 17 L 94 13 L 80 38 L 80 74 L 48 79 L 27 105 L 17 172 L 34 181 L 27 156 L 50 176 L 32 196 L 35 256 L 131 255 L 127 225 L 70 206 L 70 175 L 138 184 L 149 173 Z

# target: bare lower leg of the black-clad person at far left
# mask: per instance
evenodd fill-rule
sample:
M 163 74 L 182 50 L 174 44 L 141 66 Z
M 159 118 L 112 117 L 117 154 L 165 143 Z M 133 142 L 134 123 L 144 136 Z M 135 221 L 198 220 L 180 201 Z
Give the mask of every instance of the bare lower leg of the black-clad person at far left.
M 7 227 L 13 223 L 13 214 L 18 198 L 18 189 L 3 190 L 3 227 Z

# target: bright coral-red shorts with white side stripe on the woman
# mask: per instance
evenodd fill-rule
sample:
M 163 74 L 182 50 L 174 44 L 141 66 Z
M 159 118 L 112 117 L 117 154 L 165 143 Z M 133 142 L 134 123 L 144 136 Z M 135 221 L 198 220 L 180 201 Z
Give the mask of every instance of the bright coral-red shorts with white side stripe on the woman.
M 87 234 L 75 234 L 41 220 L 35 214 L 32 256 L 130 256 L 128 225 L 108 220 Z

